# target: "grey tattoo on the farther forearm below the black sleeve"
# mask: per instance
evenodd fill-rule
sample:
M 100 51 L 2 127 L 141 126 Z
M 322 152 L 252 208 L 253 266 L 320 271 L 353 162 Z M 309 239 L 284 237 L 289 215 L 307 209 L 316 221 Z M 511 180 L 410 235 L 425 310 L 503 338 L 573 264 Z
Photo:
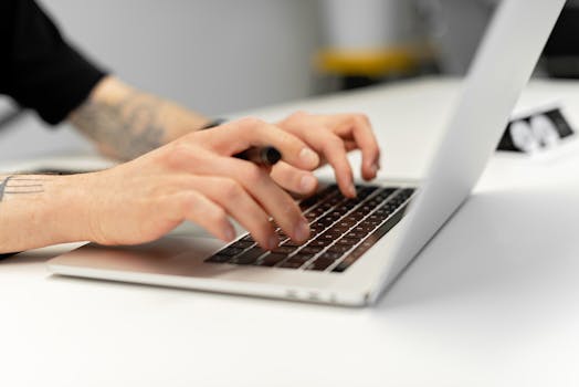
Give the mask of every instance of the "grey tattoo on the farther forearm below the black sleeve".
M 134 92 L 115 105 L 87 101 L 71 115 L 71 122 L 114 156 L 133 159 L 162 145 L 161 107 L 160 100 Z

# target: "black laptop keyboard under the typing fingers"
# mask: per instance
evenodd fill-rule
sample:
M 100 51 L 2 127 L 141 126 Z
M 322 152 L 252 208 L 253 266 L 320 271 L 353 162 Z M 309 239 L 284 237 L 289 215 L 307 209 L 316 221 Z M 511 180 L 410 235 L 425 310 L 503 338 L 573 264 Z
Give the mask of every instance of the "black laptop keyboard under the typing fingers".
M 402 219 L 414 194 L 411 188 L 356 188 L 355 199 L 331 185 L 299 202 L 310 227 L 310 238 L 303 244 L 277 228 L 280 247 L 273 251 L 261 249 L 248 233 L 206 262 L 341 273 Z

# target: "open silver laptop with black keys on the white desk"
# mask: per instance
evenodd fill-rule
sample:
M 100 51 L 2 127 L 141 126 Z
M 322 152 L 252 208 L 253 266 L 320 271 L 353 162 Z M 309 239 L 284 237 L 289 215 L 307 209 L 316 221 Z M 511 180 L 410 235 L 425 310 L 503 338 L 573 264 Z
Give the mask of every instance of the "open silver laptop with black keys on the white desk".
M 54 258 L 57 274 L 361 306 L 375 304 L 467 199 L 528 82 L 565 0 L 504 0 L 464 82 L 423 181 L 377 180 L 343 197 L 331 181 L 299 202 L 312 237 L 261 250 L 242 233 L 168 236 L 137 245 L 86 244 Z

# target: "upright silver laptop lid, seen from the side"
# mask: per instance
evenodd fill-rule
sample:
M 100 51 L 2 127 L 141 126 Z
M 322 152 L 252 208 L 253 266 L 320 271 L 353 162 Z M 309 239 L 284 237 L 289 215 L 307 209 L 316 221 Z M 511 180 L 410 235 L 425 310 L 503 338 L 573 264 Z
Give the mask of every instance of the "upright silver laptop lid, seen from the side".
M 528 82 L 565 0 L 503 0 L 465 79 L 462 97 L 413 201 L 381 291 L 469 197 Z

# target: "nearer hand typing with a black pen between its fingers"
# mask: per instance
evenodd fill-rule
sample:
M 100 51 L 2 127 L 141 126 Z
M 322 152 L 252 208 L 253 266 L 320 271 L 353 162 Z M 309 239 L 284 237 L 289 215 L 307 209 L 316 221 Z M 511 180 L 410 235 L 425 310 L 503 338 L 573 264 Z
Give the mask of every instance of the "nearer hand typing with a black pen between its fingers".
M 283 160 L 312 170 L 319 157 L 298 137 L 255 118 L 243 118 L 172 143 L 117 167 L 86 175 L 90 239 L 137 244 L 158 239 L 189 220 L 231 241 L 229 217 L 264 249 L 275 249 L 275 223 L 304 242 L 309 227 L 292 197 L 269 170 L 233 158 L 250 146 L 272 145 Z

